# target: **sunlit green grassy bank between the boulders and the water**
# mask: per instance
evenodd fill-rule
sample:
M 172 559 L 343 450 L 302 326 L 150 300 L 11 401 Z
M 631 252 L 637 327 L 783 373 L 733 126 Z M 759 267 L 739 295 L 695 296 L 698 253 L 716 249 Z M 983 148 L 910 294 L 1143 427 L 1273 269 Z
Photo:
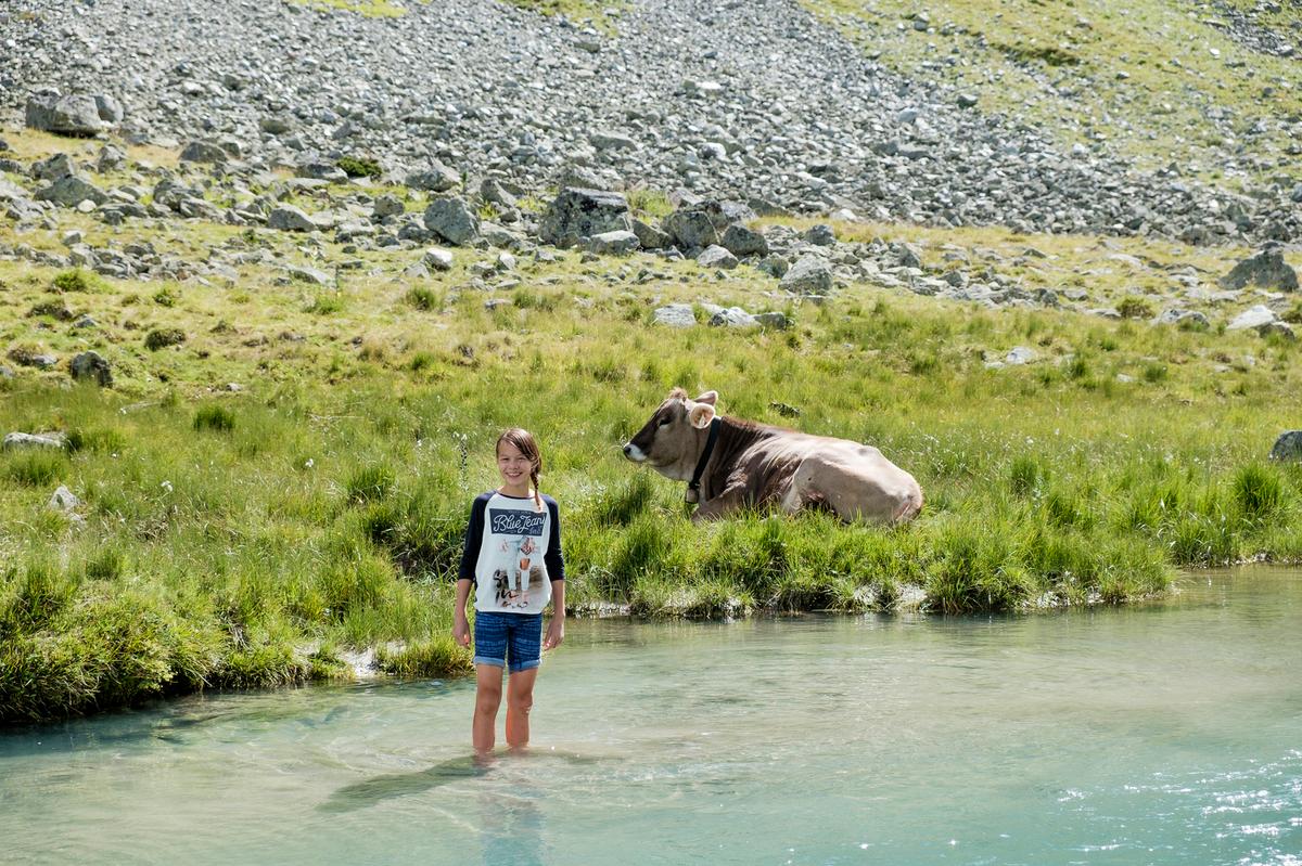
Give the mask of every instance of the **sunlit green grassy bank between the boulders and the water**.
M 154 285 L 61 293 L 57 272 L 0 263 L 10 346 L 94 346 L 118 376 L 105 391 L 57 371 L 0 380 L 0 428 L 69 442 L 0 454 L 0 718 L 348 676 L 368 648 L 404 675 L 467 670 L 449 575 L 509 424 L 543 445 L 581 610 L 1023 610 L 1163 593 L 1182 566 L 1302 559 L 1302 472 L 1264 460 L 1297 423 L 1294 343 L 871 286 L 786 306 L 786 330 L 677 332 L 648 322 L 652 296 L 767 300 L 661 264 L 644 290 L 573 254 L 522 267 L 490 311 L 458 274 L 430 281 L 430 303 L 385 278 L 322 308 L 255 274 L 160 303 Z M 22 315 L 46 295 L 102 328 Z M 163 325 L 189 339 L 146 348 Z M 1013 346 L 1038 360 L 987 368 Z M 922 518 L 691 525 L 681 485 L 618 451 L 673 385 L 879 445 L 919 479 Z M 73 515 L 47 506 L 60 484 Z

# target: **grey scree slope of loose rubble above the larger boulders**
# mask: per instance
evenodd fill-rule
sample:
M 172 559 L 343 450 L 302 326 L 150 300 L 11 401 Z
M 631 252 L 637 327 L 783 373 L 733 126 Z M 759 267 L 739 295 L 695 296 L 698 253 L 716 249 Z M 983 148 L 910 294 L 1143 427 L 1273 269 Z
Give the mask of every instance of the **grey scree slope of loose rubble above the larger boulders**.
M 102 92 L 129 140 L 224 140 L 256 166 L 368 155 L 522 190 L 609 187 L 928 225 L 1290 242 L 1302 190 L 1241 194 L 1062 152 L 979 100 L 904 79 L 792 0 L 631 3 L 613 34 L 493 0 L 401 17 L 280 1 L 17 0 L 0 99 Z M 975 103 L 975 104 L 974 104 Z

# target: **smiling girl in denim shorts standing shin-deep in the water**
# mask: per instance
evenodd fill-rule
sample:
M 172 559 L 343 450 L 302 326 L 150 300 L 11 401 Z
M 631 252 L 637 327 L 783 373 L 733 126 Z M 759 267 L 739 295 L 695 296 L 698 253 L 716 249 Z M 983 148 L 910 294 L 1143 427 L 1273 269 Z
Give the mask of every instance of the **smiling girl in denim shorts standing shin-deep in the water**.
M 529 710 L 542 650 L 565 640 L 565 562 L 556 501 L 538 493 L 543 458 L 529 430 L 513 428 L 497 437 L 497 472 L 503 485 L 480 494 L 470 508 L 470 528 L 457 576 L 452 636 L 470 646 L 466 599 L 475 586 L 475 752 L 492 752 L 506 677 L 506 745 L 529 745 Z M 533 486 L 530 486 L 533 485 Z M 543 637 L 543 609 L 552 599 L 552 620 Z

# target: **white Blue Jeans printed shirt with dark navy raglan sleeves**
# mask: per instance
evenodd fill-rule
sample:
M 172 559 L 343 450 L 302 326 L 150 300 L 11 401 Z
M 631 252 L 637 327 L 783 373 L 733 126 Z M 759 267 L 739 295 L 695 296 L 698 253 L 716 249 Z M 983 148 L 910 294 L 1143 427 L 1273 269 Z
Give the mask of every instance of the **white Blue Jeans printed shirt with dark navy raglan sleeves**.
M 475 583 L 475 610 L 540 614 L 552 581 L 565 580 L 560 512 L 549 495 L 542 499 L 539 510 L 534 497 L 475 497 L 457 575 Z

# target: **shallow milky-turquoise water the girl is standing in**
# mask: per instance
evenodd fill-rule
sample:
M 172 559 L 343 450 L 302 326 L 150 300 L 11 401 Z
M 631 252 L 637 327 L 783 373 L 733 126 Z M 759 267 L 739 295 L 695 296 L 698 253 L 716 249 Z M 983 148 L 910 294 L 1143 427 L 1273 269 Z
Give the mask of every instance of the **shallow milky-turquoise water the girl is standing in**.
M 1302 572 L 1262 567 L 1125 610 L 577 622 L 488 766 L 470 683 L 3 735 L 0 862 L 1299 866 L 1299 635 Z

